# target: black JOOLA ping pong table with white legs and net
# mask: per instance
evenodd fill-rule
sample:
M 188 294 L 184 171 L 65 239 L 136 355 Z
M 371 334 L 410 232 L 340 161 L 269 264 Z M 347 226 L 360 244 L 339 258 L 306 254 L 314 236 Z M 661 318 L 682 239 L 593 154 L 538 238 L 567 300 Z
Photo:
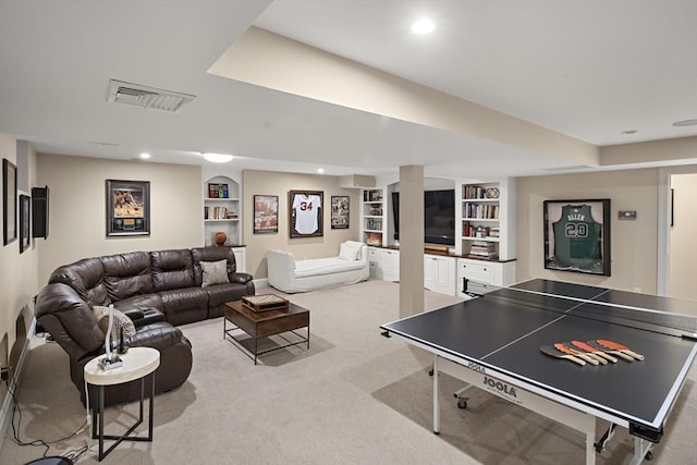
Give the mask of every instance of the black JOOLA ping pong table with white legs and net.
M 439 358 L 457 378 L 586 435 L 595 464 L 616 427 L 634 437 L 638 464 L 651 457 L 697 354 L 697 305 L 687 301 L 535 279 L 482 296 L 381 325 L 433 354 L 433 432 L 440 432 Z M 540 352 L 542 345 L 604 339 L 644 360 L 579 366 Z M 461 390 L 463 391 L 463 390 Z M 461 394 L 455 393 L 455 396 Z M 462 406 L 462 405 L 461 405 Z M 596 419 L 610 427 L 596 442 Z

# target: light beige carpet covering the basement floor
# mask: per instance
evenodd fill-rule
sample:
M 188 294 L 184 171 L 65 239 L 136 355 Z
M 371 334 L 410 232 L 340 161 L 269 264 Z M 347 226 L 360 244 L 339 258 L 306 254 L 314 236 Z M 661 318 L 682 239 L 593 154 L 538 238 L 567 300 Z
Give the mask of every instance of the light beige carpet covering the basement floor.
M 274 292 L 258 290 L 258 293 Z M 155 441 L 124 442 L 113 464 L 583 464 L 584 438 L 550 419 L 472 390 L 467 409 L 453 392 L 462 383 L 441 375 L 441 433 L 431 431 L 430 357 L 379 326 L 398 319 L 394 283 L 360 284 L 296 294 L 310 309 L 310 347 L 252 359 L 222 338 L 222 319 L 182 327 L 194 368 L 181 388 L 158 395 Z M 426 307 L 456 302 L 428 293 Z M 689 374 L 653 464 L 697 463 L 696 369 Z M 20 436 L 28 442 L 77 430 L 85 411 L 69 380 L 68 357 L 54 343 L 33 342 L 19 399 Z M 108 409 L 107 429 L 120 433 L 136 405 Z M 598 435 L 607 427 L 598 421 Z M 140 429 L 145 432 L 145 429 Z M 24 464 L 44 448 L 20 446 L 9 429 L 1 464 Z M 52 444 L 49 455 L 89 444 L 80 463 L 97 463 L 86 432 Z M 599 464 L 626 463 L 632 438 L 620 430 Z

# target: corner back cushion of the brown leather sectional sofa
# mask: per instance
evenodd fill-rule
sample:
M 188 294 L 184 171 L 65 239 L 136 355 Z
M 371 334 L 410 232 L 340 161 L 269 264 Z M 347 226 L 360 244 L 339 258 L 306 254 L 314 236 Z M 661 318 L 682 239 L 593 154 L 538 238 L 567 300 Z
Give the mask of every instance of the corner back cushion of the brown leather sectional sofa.
M 57 268 L 48 282 L 70 285 L 89 305 L 109 305 L 111 301 L 103 274 L 105 268 L 99 258 L 85 258 Z

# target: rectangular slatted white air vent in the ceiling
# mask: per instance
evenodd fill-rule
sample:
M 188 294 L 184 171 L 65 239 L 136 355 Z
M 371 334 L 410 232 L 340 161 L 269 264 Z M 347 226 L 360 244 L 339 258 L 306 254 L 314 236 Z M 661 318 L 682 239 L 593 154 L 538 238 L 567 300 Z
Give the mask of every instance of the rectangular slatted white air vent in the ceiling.
M 110 103 L 133 105 L 161 111 L 179 111 L 194 100 L 196 96 L 171 90 L 157 89 L 139 84 L 109 81 L 107 101 Z

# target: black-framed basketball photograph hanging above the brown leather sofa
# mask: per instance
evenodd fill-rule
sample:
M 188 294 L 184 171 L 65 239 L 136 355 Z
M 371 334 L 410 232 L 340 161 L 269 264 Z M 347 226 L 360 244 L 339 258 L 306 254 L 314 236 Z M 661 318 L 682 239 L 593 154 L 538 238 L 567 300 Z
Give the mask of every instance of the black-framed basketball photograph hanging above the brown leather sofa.
M 150 183 L 107 180 L 107 236 L 150 234 Z

